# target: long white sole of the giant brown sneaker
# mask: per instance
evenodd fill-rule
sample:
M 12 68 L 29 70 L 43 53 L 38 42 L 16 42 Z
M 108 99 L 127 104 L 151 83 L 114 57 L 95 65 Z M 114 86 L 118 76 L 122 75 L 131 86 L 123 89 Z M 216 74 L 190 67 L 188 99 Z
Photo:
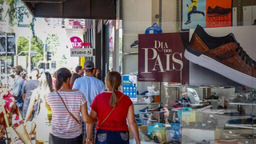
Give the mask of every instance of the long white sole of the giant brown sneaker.
M 238 70 L 230 68 L 229 66 L 225 66 L 222 63 L 217 62 L 203 54 L 197 56 L 190 53 L 188 50 L 185 50 L 184 56 L 190 62 L 198 64 L 199 66 L 206 67 L 209 70 L 213 70 L 214 72 L 221 74 L 226 78 L 230 78 L 234 82 L 238 82 L 244 86 L 249 86 L 256 89 L 256 78 L 254 77 L 243 74 Z

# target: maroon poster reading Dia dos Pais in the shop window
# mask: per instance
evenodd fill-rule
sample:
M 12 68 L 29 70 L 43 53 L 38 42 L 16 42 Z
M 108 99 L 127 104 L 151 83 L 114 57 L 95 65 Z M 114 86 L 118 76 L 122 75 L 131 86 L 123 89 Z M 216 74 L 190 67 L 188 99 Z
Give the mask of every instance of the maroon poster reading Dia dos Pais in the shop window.
M 139 34 L 138 42 L 139 82 L 188 82 L 189 33 Z

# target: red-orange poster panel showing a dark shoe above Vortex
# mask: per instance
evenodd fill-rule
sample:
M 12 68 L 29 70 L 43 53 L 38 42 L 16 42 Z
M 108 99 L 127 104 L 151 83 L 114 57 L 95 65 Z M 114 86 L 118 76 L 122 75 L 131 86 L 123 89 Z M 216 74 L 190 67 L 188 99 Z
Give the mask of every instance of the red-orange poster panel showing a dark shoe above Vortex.
M 206 2 L 206 27 L 232 26 L 232 0 Z

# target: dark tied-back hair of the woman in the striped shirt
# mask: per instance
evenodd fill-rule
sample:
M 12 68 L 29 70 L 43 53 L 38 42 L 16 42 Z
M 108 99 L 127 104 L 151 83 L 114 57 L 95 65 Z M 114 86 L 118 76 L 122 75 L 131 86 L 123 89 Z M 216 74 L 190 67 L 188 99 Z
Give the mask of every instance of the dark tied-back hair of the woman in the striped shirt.
M 62 87 L 63 82 L 66 82 L 68 78 L 71 78 L 71 75 L 70 70 L 66 68 L 58 69 L 55 90 L 59 90 Z

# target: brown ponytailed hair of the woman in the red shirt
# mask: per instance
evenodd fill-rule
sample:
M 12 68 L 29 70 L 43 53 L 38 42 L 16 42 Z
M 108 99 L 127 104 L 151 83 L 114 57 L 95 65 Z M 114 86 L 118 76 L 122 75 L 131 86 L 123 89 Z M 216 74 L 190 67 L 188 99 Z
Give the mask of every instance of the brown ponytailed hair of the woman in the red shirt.
M 110 71 L 106 74 L 105 83 L 106 88 L 112 91 L 110 98 L 110 106 L 114 107 L 118 105 L 118 96 L 115 93 L 118 90 L 118 87 L 121 85 L 122 77 L 117 71 Z

